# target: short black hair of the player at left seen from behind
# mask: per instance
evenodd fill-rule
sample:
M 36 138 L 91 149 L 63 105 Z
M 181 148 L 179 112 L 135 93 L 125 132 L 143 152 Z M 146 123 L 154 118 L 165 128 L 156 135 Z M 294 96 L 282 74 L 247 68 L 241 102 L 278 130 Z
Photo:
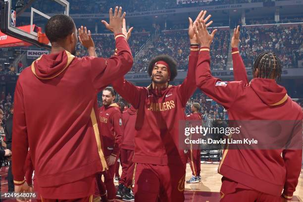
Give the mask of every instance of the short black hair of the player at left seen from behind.
M 45 34 L 50 43 L 62 40 L 74 31 L 75 23 L 73 19 L 64 14 L 52 16 L 45 26 Z

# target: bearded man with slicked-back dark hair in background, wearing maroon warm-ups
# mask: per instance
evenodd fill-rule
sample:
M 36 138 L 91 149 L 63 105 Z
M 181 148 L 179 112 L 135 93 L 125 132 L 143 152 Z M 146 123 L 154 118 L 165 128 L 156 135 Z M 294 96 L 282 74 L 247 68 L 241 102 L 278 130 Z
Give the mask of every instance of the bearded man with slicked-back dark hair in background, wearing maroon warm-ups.
M 108 170 L 103 172 L 104 185 L 107 190 L 107 201 L 112 202 L 115 200 L 115 165 L 119 157 L 123 124 L 120 106 L 114 103 L 116 92 L 112 87 L 106 87 L 102 91 L 102 104 L 99 109 L 101 136 L 103 139 L 104 155 L 108 165 Z M 99 178 L 101 180 L 101 177 Z M 101 196 L 104 191 L 100 190 Z

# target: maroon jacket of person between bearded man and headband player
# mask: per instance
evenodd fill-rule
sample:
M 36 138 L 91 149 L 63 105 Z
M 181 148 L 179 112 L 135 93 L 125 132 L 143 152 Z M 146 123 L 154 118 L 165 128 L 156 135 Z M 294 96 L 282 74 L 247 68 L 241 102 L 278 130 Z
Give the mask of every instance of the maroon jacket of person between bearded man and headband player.
M 124 124 L 124 133 L 123 133 L 123 142 L 122 149 L 125 150 L 134 150 L 135 143 L 135 124 L 137 119 L 137 110 L 131 106 L 122 114 L 123 124 Z

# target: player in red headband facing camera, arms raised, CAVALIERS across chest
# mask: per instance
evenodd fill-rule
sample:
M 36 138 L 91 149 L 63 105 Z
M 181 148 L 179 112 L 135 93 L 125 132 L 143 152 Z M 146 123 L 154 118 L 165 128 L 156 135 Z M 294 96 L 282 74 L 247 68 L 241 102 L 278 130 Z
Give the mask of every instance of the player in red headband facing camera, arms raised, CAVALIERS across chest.
M 200 12 L 196 21 L 205 14 Z M 112 83 L 119 95 L 138 109 L 133 158 L 137 163 L 134 194 L 138 202 L 184 201 L 187 155 L 178 147 L 178 126 L 180 120 L 186 119 L 186 103 L 196 90 L 195 66 L 199 53 L 193 21 L 189 20 L 189 68 L 181 85 L 169 85 L 177 76 L 177 63 L 168 55 L 159 55 L 150 61 L 148 72 L 152 84 L 149 87 L 136 87 L 124 79 Z

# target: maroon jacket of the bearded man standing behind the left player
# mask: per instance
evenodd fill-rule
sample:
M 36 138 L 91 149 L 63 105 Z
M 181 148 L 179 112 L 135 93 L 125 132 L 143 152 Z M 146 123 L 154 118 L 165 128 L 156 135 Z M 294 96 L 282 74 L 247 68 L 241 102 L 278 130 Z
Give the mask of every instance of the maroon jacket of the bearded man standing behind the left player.
M 123 136 L 120 106 L 117 103 L 112 103 L 107 107 L 101 106 L 99 117 L 104 154 L 105 156 L 117 156 L 121 149 Z

